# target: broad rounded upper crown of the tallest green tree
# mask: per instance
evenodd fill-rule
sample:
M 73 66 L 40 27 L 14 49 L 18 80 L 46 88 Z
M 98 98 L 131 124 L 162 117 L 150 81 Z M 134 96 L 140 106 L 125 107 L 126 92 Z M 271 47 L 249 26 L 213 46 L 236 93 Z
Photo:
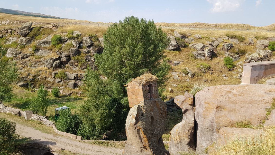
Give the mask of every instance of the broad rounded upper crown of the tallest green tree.
M 169 44 L 166 33 L 153 20 L 133 15 L 109 26 L 103 38 L 104 50 L 95 55 L 95 63 L 101 74 L 122 87 L 146 72 L 156 74 Z

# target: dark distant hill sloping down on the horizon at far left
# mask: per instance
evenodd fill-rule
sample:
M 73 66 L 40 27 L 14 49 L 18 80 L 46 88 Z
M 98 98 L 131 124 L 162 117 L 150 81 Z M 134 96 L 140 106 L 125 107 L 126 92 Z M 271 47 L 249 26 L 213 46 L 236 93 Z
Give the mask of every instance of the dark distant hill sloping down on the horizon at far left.
M 65 18 L 61 18 L 61 17 L 44 15 L 44 14 L 40 14 L 40 13 L 25 12 L 25 11 L 19 11 L 19 10 L 3 9 L 3 8 L 0 8 L 0 13 L 12 14 L 12 15 L 24 15 L 24 16 L 32 16 L 32 17 L 42 17 L 42 18 L 65 19 Z

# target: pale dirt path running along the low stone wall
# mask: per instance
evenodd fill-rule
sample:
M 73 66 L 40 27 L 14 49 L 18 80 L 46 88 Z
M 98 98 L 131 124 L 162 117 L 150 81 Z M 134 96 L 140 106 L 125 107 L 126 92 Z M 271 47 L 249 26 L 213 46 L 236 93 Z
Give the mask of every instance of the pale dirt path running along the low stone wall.
M 1 116 L 0 116 L 1 117 Z M 7 118 L 9 119 L 9 118 Z M 13 120 L 10 120 L 13 121 Z M 59 135 L 43 133 L 32 127 L 28 127 L 20 122 L 16 122 L 16 133 L 22 137 L 31 138 L 33 141 L 43 141 L 49 145 L 61 147 L 73 153 L 90 155 L 118 155 L 122 154 L 122 149 L 91 145 L 81 141 L 73 140 Z

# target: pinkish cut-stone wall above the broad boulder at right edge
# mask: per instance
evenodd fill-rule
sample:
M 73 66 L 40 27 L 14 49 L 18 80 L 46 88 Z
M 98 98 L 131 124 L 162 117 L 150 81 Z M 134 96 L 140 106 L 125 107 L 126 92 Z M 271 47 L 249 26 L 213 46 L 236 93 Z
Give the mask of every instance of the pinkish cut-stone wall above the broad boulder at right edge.
M 245 63 L 241 84 L 255 84 L 273 74 L 275 74 L 275 61 Z

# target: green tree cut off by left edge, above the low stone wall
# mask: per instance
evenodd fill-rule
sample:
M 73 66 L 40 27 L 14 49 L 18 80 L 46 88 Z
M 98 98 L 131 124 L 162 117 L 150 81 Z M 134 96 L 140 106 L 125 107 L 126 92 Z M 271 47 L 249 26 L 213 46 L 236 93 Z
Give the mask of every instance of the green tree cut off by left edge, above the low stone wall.
M 12 83 L 18 77 L 16 63 L 8 61 L 7 50 L 0 44 L 0 102 L 2 98 L 12 92 Z

